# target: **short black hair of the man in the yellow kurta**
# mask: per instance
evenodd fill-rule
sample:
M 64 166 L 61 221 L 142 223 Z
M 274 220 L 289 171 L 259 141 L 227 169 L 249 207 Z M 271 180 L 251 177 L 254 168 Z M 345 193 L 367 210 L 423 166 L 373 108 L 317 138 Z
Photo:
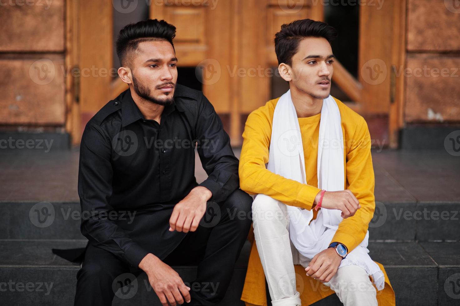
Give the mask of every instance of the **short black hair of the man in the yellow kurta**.
M 337 30 L 321 21 L 311 19 L 295 20 L 281 26 L 275 35 L 275 53 L 278 65 L 292 65 L 292 57 L 297 53 L 300 40 L 307 37 L 324 37 L 329 44 L 337 37 Z

